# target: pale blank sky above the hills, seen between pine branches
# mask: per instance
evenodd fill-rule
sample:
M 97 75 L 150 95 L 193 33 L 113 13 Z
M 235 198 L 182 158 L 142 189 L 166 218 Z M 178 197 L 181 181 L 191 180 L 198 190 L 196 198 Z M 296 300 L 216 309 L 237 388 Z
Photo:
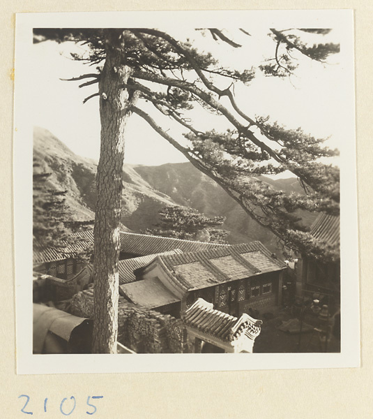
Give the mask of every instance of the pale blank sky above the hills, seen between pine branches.
M 238 30 L 229 31 L 234 40 L 243 45 L 234 49 L 225 43 L 216 43 L 201 31 L 174 29 L 177 38 L 190 37 L 195 47 L 211 50 L 223 66 L 251 68 L 263 64 L 265 57 L 273 57 L 275 43 L 266 28 L 250 30 L 246 36 Z M 331 32 L 333 41 L 338 34 Z M 75 154 L 98 160 L 100 149 L 100 118 L 98 97 L 87 103 L 82 101 L 97 91 L 97 84 L 79 89 L 79 82 L 66 82 L 61 78 L 77 77 L 92 68 L 70 58 L 70 51 L 82 51 L 73 43 L 56 44 L 51 41 L 33 45 L 33 105 L 30 112 L 33 124 L 50 130 Z M 341 138 L 340 111 L 343 89 L 340 80 L 344 69 L 338 54 L 328 65 L 305 59 L 290 79 L 266 78 L 259 71 L 249 87 L 236 86 L 238 105 L 252 118 L 271 115 L 271 118 L 289 128 L 299 126 L 318 138 L 329 138 L 326 143 L 338 148 Z M 94 70 L 94 69 L 93 69 Z M 228 82 L 227 82 L 228 83 Z M 219 87 L 227 87 L 223 84 Z M 224 100 L 222 100 L 224 103 Z M 206 115 L 196 108 L 192 115 L 197 128 L 224 131 L 229 127 L 224 117 Z M 165 120 L 168 124 L 168 120 Z M 169 122 L 172 129 L 172 122 Z M 170 131 L 181 138 L 181 131 Z M 159 165 L 186 161 L 185 157 L 166 140 L 155 133 L 146 122 L 132 115 L 125 138 L 125 163 Z

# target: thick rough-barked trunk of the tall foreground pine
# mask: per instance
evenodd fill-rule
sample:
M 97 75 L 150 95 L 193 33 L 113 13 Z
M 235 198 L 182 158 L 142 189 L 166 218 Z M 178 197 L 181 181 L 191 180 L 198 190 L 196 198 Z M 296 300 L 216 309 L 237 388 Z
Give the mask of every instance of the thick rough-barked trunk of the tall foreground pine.
M 121 221 L 124 130 L 137 96 L 124 86 L 130 76 L 117 29 L 105 31 L 106 59 L 100 76 L 101 145 L 94 228 L 93 353 L 116 353 L 119 298 L 119 225 Z

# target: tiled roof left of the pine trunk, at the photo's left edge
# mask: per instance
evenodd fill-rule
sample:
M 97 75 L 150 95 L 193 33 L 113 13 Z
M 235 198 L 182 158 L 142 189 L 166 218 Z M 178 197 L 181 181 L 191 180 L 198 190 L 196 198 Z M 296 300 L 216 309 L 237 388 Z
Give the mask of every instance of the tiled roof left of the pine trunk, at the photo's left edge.
M 93 245 L 93 228 L 75 233 L 76 241 L 63 241 L 64 247 L 43 247 L 37 242 L 33 243 L 33 263 L 54 262 L 75 256 L 80 251 L 89 249 Z

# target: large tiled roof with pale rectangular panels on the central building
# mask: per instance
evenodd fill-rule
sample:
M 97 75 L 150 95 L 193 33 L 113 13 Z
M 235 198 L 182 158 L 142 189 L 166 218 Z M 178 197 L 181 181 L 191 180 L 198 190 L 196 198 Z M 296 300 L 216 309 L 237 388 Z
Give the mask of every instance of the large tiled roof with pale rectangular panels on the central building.
M 147 267 L 137 270 L 136 276 L 141 277 L 143 270 L 151 269 L 153 264 L 160 264 L 167 271 L 169 280 L 183 292 L 287 267 L 281 260 L 273 257 L 261 242 L 158 256 Z

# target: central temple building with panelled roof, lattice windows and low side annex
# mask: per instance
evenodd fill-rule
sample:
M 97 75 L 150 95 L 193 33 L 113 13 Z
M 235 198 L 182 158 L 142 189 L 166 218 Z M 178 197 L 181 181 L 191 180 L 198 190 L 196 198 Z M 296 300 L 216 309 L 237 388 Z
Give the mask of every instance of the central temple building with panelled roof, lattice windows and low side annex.
M 157 256 L 119 286 L 130 302 L 182 317 L 199 298 L 231 316 L 274 311 L 287 269 L 260 242 Z

